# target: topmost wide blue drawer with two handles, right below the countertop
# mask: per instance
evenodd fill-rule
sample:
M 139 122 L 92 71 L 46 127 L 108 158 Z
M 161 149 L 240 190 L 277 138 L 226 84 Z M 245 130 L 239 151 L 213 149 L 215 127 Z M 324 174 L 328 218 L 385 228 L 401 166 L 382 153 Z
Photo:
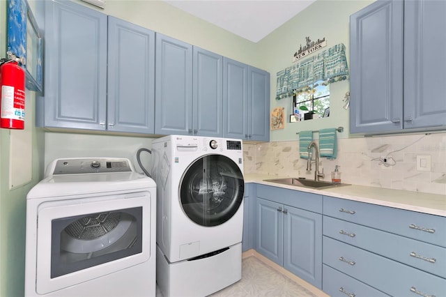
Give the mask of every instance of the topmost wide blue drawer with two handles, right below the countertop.
M 446 248 L 446 218 L 347 199 L 324 197 L 323 214 Z

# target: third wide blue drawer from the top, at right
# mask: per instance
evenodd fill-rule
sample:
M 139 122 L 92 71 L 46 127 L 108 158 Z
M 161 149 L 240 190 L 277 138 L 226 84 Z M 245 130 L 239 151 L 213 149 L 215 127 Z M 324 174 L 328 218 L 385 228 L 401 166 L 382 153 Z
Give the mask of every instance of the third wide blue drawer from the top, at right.
M 323 264 L 392 296 L 446 295 L 444 278 L 327 236 L 323 236 Z

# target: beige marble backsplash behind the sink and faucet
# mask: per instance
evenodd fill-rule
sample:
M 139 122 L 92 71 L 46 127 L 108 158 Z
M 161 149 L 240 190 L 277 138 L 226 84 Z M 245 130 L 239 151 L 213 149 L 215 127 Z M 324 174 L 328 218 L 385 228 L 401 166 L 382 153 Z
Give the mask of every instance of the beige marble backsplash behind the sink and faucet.
M 243 146 L 245 174 L 314 178 L 314 171 L 306 170 L 307 160 L 299 158 L 298 140 Z M 392 156 L 393 166 L 380 165 L 386 155 Z M 417 155 L 431 156 L 430 171 L 417 170 Z M 339 165 L 343 183 L 446 195 L 446 133 L 342 138 L 337 159 L 321 158 L 319 164 L 324 181 L 331 181 L 330 173 Z

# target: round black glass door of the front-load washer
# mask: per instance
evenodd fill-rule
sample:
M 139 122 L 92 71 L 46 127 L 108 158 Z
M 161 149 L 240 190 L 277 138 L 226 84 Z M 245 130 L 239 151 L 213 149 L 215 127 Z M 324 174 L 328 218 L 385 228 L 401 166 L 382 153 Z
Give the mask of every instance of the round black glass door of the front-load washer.
M 223 224 L 243 201 L 245 181 L 238 165 L 224 155 L 204 155 L 192 162 L 180 181 L 185 215 L 201 226 Z

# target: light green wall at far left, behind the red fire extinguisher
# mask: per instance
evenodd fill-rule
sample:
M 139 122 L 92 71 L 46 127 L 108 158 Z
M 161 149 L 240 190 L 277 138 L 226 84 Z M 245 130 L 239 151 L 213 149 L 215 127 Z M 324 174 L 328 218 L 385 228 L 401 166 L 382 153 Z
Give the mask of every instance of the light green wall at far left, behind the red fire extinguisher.
M 30 1 L 32 5 L 32 2 Z M 6 57 L 6 1 L 0 1 L 0 57 Z M 42 178 L 44 134 L 34 123 L 35 94 L 26 91 L 26 121 L 31 125 L 32 181 L 9 190 L 10 130 L 0 129 L 0 296 L 24 295 L 26 194 Z M 17 133 L 20 133 L 18 131 Z

